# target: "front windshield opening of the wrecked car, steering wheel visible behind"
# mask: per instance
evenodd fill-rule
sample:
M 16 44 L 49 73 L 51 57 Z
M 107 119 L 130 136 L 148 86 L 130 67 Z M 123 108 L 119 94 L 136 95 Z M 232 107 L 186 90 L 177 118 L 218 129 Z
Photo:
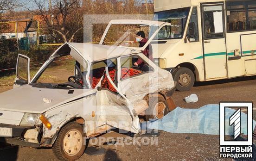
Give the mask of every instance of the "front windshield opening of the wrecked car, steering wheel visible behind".
M 35 83 L 49 88 L 86 88 L 87 67 L 86 62 L 80 64 L 70 55 L 59 56 L 51 61 Z

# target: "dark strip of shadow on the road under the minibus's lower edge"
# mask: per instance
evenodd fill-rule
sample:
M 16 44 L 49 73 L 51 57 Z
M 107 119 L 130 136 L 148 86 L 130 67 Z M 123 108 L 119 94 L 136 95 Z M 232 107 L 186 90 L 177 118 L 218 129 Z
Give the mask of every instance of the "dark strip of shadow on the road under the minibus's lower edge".
M 224 83 L 230 83 L 230 82 L 240 82 L 240 81 L 251 81 L 251 80 L 256 80 L 256 76 L 237 77 L 237 78 L 217 80 L 217 81 L 195 82 L 194 86 L 195 87 L 209 86 L 209 85 L 224 84 Z

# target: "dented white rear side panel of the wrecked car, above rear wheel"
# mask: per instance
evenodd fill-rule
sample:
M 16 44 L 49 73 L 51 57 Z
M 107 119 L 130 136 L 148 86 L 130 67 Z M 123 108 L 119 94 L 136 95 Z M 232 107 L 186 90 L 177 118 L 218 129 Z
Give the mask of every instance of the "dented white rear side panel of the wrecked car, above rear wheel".
M 143 54 L 137 55 L 147 62 L 149 66 L 154 68 L 154 71 L 124 80 L 121 80 L 121 70 L 118 71 L 120 90 L 125 93 L 132 103 L 142 100 L 147 94 L 163 93 L 164 91 L 170 91 L 175 88 L 176 85 L 170 72 L 159 68 Z M 118 68 L 120 69 L 121 67 Z

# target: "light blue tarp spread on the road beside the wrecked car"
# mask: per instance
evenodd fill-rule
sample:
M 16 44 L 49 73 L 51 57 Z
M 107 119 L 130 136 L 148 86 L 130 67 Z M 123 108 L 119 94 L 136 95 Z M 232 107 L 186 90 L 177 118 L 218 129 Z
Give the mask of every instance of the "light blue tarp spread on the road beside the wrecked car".
M 229 125 L 230 116 L 236 110 L 225 108 L 225 124 Z M 247 135 L 247 114 L 241 112 L 241 133 Z M 256 122 L 253 120 L 253 129 Z M 219 105 L 205 105 L 199 109 L 177 107 L 164 118 L 149 124 L 149 129 L 171 133 L 198 133 L 219 135 Z M 225 127 L 225 135 L 233 135 L 233 126 Z

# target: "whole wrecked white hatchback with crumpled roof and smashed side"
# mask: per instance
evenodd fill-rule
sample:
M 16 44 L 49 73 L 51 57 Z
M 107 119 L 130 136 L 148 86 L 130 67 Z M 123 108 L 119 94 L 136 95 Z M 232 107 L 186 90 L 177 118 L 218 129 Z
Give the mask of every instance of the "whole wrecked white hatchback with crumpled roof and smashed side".
M 139 133 L 139 117 L 164 117 L 175 108 L 175 82 L 143 48 L 65 43 L 32 80 L 30 59 L 19 55 L 14 89 L 0 93 L 0 142 L 53 147 L 58 159 L 76 160 L 90 137 L 111 128 Z M 147 68 L 135 67 L 137 59 Z

